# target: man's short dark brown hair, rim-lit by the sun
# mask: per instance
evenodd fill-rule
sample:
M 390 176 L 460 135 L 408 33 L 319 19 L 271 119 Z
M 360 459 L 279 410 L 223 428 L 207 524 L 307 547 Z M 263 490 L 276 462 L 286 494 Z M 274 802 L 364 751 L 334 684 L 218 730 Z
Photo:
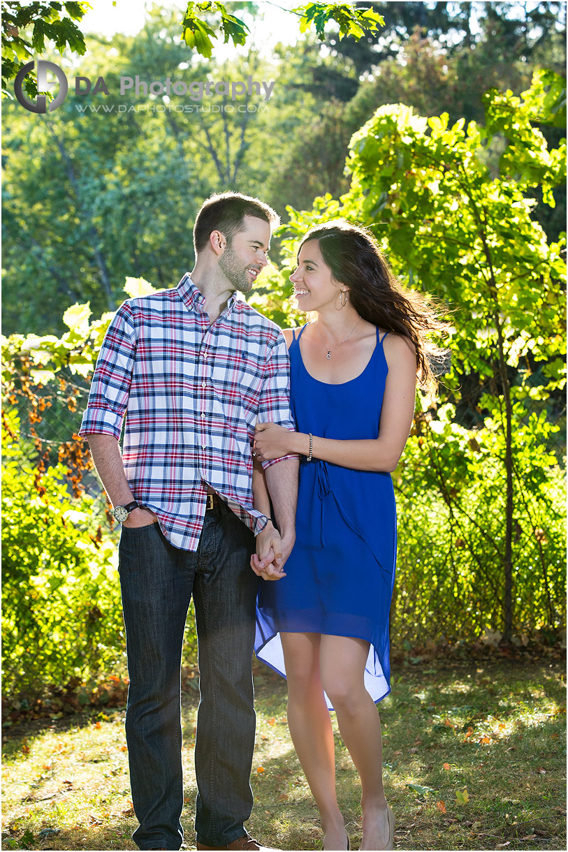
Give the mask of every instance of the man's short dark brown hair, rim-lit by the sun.
M 270 226 L 280 224 L 280 216 L 268 204 L 242 193 L 215 193 L 201 205 L 195 218 L 195 254 L 205 248 L 212 231 L 220 231 L 230 240 L 243 230 L 245 216 L 256 216 Z

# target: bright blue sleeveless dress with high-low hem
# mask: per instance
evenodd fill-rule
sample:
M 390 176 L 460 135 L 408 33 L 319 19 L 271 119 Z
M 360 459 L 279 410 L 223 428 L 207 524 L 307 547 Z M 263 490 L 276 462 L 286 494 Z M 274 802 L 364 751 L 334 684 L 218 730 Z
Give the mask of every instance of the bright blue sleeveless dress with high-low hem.
M 377 438 L 388 366 L 383 341 L 350 382 L 310 376 L 295 333 L 289 348 L 298 432 Z M 354 636 L 370 642 L 365 687 L 375 702 L 391 691 L 389 611 L 397 557 L 397 510 L 389 473 L 300 458 L 296 543 L 277 581 L 261 580 L 255 651 L 286 677 L 280 631 Z M 327 696 L 326 696 L 327 699 Z M 329 709 L 333 706 L 327 699 Z

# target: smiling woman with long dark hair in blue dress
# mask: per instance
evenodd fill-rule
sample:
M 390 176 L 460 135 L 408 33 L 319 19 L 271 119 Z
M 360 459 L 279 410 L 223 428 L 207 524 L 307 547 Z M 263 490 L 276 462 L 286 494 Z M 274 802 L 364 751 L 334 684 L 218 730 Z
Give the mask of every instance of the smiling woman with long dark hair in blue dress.
M 391 691 L 389 609 L 397 521 L 390 472 L 414 413 L 416 377 L 432 379 L 427 343 L 443 322 L 403 293 L 373 236 L 346 222 L 304 236 L 290 280 L 298 308 L 316 320 L 284 331 L 298 432 L 258 423 L 261 461 L 300 455 L 296 544 L 286 574 L 261 584 L 257 656 L 287 677 L 288 724 L 322 820 L 323 849 L 349 849 L 335 792 L 333 730 L 361 777 L 361 849 L 392 849 L 383 789 L 380 718 Z M 269 511 L 255 477 L 255 504 Z M 261 561 L 270 528 L 258 537 Z

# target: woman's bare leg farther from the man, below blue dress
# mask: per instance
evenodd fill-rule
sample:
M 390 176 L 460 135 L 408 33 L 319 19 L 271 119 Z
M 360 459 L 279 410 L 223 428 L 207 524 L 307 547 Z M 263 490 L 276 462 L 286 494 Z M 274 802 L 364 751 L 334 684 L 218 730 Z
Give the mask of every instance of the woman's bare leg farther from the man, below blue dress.
M 337 713 L 339 731 L 362 786 L 361 849 L 385 849 L 389 840 L 382 774 L 380 718 L 364 684 L 369 643 L 347 636 L 322 636 L 322 685 Z

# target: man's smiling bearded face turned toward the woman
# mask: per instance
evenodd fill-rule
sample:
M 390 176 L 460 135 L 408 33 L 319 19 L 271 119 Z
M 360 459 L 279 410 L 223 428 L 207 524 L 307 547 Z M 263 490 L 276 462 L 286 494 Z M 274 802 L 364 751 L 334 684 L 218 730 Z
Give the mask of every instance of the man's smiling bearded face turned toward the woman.
M 219 268 L 237 290 L 247 293 L 268 263 L 269 249 L 270 224 L 245 216 L 243 230 L 235 233 L 219 257 Z

